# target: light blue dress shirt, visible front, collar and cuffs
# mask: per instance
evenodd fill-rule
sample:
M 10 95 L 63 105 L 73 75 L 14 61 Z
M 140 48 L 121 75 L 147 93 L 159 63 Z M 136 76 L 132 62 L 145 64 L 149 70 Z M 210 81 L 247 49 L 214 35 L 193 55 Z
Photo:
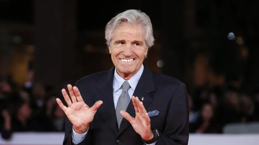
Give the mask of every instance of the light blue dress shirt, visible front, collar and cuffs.
M 128 82 L 130 84 L 130 88 L 128 90 L 130 98 L 133 96 L 133 93 L 135 91 L 135 88 L 137 87 L 138 81 L 139 81 L 139 79 L 142 75 L 143 70 L 144 70 L 144 65 L 142 64 L 142 67 L 140 68 L 140 70 L 128 80 Z M 116 106 L 117 106 L 118 99 L 121 96 L 122 84 L 123 84 L 124 81 L 125 80 L 121 76 L 118 75 L 118 73 L 116 72 L 116 68 L 115 68 L 114 78 L 113 78 L 113 102 L 114 102 L 114 108 L 115 109 L 116 109 Z M 73 143 L 74 144 L 81 143 L 84 140 L 87 133 L 88 133 L 88 130 L 84 134 L 78 134 L 78 133 L 76 133 L 76 131 L 74 131 L 74 128 L 72 127 Z M 152 144 L 147 144 L 147 145 L 155 145 L 156 142 L 154 142 Z

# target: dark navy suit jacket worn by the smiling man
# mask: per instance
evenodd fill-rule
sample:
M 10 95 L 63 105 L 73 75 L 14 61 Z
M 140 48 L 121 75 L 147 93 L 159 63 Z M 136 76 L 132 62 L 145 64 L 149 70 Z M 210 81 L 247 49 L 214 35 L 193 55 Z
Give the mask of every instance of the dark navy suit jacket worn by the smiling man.
M 84 102 L 92 106 L 102 100 L 88 134 L 78 145 L 142 145 L 142 138 L 131 124 L 123 118 L 120 130 L 113 103 L 113 67 L 104 72 L 86 76 L 76 82 Z M 134 96 L 144 97 L 146 111 L 158 110 L 157 116 L 150 117 L 151 128 L 159 130 L 157 145 L 187 145 L 189 139 L 189 102 L 186 86 L 181 81 L 150 71 L 144 65 L 144 71 L 134 91 Z M 135 117 L 135 110 L 130 102 L 126 112 Z M 63 145 L 72 143 L 72 123 L 66 119 Z

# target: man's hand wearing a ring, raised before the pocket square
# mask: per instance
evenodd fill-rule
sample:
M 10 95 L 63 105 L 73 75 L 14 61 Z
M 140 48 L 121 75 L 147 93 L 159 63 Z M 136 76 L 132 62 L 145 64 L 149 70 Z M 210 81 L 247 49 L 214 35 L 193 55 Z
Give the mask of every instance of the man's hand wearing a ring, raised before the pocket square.
M 138 97 L 132 96 L 131 100 L 135 108 L 136 117 L 130 116 L 130 114 L 124 110 L 121 110 L 121 115 L 130 122 L 134 130 L 142 137 L 142 139 L 151 140 L 154 137 L 154 134 L 150 128 L 150 118 L 146 109 Z

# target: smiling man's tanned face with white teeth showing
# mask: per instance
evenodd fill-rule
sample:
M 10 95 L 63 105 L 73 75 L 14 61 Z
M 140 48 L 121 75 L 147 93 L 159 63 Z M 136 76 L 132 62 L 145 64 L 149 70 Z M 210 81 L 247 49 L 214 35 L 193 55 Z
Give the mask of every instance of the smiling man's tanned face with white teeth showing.
M 117 73 L 130 79 L 141 68 L 147 50 L 143 28 L 124 24 L 115 30 L 109 53 Z

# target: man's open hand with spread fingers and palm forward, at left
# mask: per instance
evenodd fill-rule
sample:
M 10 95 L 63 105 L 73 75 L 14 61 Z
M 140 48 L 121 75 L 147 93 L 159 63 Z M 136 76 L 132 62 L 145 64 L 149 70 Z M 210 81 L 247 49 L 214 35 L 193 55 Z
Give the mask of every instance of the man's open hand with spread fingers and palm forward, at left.
M 72 102 L 66 90 L 62 89 L 62 94 L 68 104 L 68 107 L 66 107 L 59 98 L 56 99 L 57 103 L 73 124 L 76 133 L 83 134 L 87 131 L 97 109 L 103 102 L 101 100 L 97 101 L 92 107 L 89 107 L 84 103 L 84 100 L 76 86 L 72 87 L 72 85 L 68 84 L 68 91 Z

